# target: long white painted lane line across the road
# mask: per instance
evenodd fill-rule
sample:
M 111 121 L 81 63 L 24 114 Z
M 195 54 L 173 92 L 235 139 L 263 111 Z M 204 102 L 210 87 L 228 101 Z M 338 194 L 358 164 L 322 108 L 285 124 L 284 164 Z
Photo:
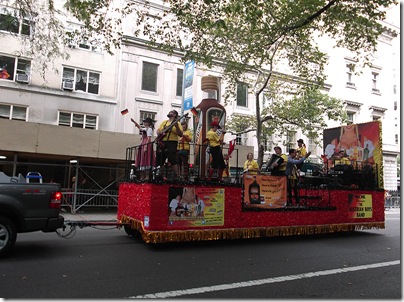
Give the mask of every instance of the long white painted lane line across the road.
M 303 273 L 303 274 L 297 274 L 297 275 L 273 277 L 273 278 L 267 278 L 267 279 L 258 279 L 258 280 L 236 282 L 236 283 L 229 283 L 229 284 L 220 284 L 220 285 L 213 285 L 213 286 L 204 286 L 204 287 L 190 288 L 190 289 L 184 289 L 184 290 L 174 290 L 174 291 L 169 291 L 169 292 L 146 294 L 146 295 L 140 295 L 140 296 L 134 296 L 134 297 L 128 297 L 128 298 L 129 299 L 131 299 L 131 298 L 135 298 L 135 299 L 139 299 L 139 298 L 173 298 L 173 297 L 179 297 L 179 296 L 185 296 L 185 295 L 196 295 L 196 294 L 203 294 L 203 293 L 215 292 L 215 291 L 220 291 L 220 290 L 239 289 L 239 288 L 243 288 L 243 287 L 259 286 L 259 285 L 264 285 L 264 284 L 271 284 L 271 283 L 293 281 L 293 280 L 299 280 L 299 279 L 308 279 L 308 278 L 319 277 L 319 276 L 355 272 L 355 271 L 360 271 L 360 270 L 367 270 L 367 269 L 399 265 L 399 264 L 400 264 L 400 260 L 396 260 L 396 261 L 389 261 L 389 262 L 359 265 L 359 266 L 353 266 L 353 267 L 337 268 L 337 269 L 318 271 L 318 272 Z

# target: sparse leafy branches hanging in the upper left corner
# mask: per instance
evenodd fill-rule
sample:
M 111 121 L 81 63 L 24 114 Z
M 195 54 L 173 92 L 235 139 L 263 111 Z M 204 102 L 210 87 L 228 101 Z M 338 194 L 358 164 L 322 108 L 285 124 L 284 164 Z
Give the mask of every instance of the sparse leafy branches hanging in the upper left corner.
M 102 0 L 4 0 L 2 5 L 0 36 L 8 31 L 7 34 L 20 39 L 21 49 L 16 55 L 30 57 L 32 70 L 39 72 L 44 79 L 45 73 L 54 69 L 55 59 L 70 58 L 69 44 L 96 43 L 113 54 L 120 47 L 122 18 L 137 9 L 133 2 L 121 7 L 120 1 Z M 67 31 L 67 19 L 82 26 Z M 13 27 L 21 20 L 30 30 L 19 35 Z

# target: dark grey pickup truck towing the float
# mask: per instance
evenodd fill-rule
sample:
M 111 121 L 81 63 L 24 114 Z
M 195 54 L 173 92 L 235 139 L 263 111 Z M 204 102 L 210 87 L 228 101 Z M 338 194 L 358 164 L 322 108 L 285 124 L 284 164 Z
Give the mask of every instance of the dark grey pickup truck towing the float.
M 0 258 L 11 252 L 17 233 L 62 228 L 61 201 L 60 184 L 27 183 L 22 175 L 0 172 Z

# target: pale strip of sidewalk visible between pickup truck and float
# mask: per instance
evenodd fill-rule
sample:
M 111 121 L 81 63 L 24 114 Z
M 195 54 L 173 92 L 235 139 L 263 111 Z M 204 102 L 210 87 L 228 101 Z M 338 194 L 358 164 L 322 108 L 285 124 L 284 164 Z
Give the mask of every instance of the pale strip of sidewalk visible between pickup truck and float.
M 117 221 L 117 209 L 80 209 L 76 214 L 72 214 L 70 209 L 63 208 L 60 212 L 65 221 Z

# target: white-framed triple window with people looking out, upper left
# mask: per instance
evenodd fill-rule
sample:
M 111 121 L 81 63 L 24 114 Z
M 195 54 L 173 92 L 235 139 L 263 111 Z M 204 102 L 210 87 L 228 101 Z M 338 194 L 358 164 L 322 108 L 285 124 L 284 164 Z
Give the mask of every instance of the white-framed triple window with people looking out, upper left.
M 99 88 L 100 73 L 63 67 L 62 89 L 98 94 Z

